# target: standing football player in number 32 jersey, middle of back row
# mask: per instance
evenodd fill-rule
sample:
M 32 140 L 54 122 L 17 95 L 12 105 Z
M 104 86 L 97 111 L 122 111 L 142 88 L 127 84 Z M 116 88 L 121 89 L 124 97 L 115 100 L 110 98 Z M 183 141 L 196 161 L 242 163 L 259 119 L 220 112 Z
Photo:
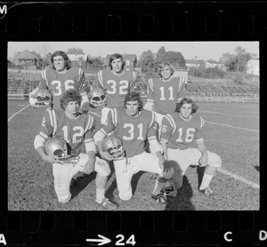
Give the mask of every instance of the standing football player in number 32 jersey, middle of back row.
M 96 76 L 96 87 L 101 87 L 107 95 L 107 108 L 123 108 L 125 95 L 134 84 L 136 73 L 125 71 L 125 60 L 119 53 L 109 57 L 109 68 L 102 69 Z M 101 123 L 105 123 L 109 111 L 105 111 Z

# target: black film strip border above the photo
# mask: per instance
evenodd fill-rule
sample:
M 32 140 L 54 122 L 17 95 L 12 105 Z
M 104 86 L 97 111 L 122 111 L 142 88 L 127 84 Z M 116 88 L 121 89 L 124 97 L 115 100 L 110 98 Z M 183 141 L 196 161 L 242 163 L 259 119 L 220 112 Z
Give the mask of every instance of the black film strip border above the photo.
M 0 29 L 12 40 L 254 40 L 266 33 L 266 8 L 254 1 L 0 4 Z

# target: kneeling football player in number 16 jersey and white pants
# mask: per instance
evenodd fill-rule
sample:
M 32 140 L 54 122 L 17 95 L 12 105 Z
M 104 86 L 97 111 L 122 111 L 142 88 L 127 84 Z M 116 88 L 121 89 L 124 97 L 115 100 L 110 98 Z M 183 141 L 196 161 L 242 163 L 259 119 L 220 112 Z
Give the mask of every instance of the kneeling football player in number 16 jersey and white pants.
M 174 163 L 174 187 L 182 187 L 182 177 L 187 168 L 199 165 L 205 168 L 199 191 L 205 195 L 213 194 L 209 187 L 218 167 L 222 166 L 219 155 L 206 150 L 203 136 L 205 120 L 195 114 L 198 106 L 189 98 L 183 98 L 174 113 L 167 114 L 162 121 L 160 144 L 164 157 Z M 194 147 L 194 143 L 197 147 Z

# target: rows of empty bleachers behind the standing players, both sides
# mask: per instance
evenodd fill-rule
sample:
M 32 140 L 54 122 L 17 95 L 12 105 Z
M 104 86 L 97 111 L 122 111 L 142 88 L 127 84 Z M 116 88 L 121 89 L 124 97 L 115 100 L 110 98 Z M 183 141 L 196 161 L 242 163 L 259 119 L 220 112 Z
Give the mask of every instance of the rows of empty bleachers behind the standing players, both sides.
M 93 75 L 85 75 L 92 81 Z M 19 73 L 12 71 L 8 73 L 7 80 L 8 95 L 16 98 L 16 94 L 23 94 L 28 97 L 28 93 L 34 90 L 39 84 L 39 74 L 37 73 Z M 142 98 L 146 98 L 148 90 L 147 78 L 141 76 L 140 81 L 134 84 L 134 90 L 142 94 Z M 216 82 L 216 81 L 194 81 L 186 84 L 186 97 L 193 98 L 198 101 L 206 102 L 258 102 L 259 101 L 259 85 L 257 84 L 237 84 L 232 81 Z M 9 97 L 9 99 L 11 99 Z M 23 99 L 23 96 L 22 96 Z

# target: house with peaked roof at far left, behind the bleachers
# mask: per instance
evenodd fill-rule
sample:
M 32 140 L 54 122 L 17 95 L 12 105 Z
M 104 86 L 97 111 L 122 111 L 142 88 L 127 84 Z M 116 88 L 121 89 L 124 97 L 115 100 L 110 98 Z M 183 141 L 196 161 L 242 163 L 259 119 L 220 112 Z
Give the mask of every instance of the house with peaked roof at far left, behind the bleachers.
M 36 69 L 36 67 L 42 66 L 42 58 L 34 51 L 25 50 L 14 58 L 14 63 L 22 68 Z

